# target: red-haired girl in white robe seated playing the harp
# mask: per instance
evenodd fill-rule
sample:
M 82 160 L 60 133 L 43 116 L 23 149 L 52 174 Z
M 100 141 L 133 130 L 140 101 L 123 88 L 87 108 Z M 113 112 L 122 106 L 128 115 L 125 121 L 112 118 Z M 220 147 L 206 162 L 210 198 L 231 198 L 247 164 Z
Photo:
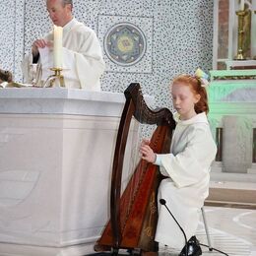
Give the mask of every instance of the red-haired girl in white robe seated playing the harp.
M 177 122 L 170 154 L 155 154 L 144 141 L 140 151 L 142 159 L 160 165 L 167 178 L 159 187 L 159 200 L 164 199 L 188 239 L 189 256 L 202 254 L 195 237 L 199 213 L 209 193 L 210 165 L 217 147 L 213 140 L 207 113 L 209 111 L 205 80 L 197 75 L 180 75 L 173 80 L 171 95 Z M 205 73 L 203 73 L 206 75 Z M 159 204 L 159 221 L 155 240 L 186 255 L 185 239 L 166 208 Z M 182 249 L 183 248 L 183 249 Z

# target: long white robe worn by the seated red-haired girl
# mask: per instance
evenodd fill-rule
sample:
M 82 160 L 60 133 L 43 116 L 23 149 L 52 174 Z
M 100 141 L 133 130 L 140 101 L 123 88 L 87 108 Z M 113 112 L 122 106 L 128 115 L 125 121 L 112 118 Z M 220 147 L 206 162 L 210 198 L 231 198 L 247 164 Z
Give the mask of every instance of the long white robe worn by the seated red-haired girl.
M 159 188 L 160 198 L 184 229 L 187 239 L 195 234 L 200 209 L 209 193 L 210 165 L 217 147 L 205 113 L 177 121 L 170 154 L 158 155 L 160 171 L 168 178 Z M 159 204 L 156 241 L 181 250 L 184 236 L 164 206 Z

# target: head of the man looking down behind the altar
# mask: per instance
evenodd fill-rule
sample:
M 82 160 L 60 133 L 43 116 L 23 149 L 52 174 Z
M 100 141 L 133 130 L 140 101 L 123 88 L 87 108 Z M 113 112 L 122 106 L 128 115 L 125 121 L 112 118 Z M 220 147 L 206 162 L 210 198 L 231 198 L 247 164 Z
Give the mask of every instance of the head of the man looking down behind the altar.
M 46 5 L 54 25 L 64 27 L 72 20 L 71 4 L 64 4 L 62 0 L 47 0 Z

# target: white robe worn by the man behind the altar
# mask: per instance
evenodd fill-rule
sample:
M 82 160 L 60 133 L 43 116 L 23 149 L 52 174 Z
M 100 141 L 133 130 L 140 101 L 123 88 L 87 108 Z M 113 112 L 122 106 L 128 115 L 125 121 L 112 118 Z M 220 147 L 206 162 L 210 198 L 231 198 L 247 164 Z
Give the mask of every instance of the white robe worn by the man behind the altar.
M 49 32 L 45 40 L 53 40 L 53 32 Z M 48 54 L 47 54 L 48 50 Z M 52 49 L 45 47 L 46 56 L 39 58 L 36 75 L 42 85 L 50 74 L 53 64 Z M 42 52 L 40 49 L 40 52 Z M 104 71 L 104 61 L 96 32 L 79 23 L 76 19 L 63 27 L 63 76 L 67 88 L 81 88 L 100 91 L 99 78 Z M 25 56 L 22 63 L 25 82 L 32 84 L 32 53 Z

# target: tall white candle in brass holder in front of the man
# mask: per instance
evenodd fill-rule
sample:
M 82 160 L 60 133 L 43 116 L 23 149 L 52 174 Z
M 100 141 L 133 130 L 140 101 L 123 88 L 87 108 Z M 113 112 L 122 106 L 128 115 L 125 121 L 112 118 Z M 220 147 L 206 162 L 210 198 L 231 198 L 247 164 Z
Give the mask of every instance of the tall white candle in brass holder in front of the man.
M 53 30 L 53 66 L 54 68 L 62 68 L 62 27 L 54 26 Z

